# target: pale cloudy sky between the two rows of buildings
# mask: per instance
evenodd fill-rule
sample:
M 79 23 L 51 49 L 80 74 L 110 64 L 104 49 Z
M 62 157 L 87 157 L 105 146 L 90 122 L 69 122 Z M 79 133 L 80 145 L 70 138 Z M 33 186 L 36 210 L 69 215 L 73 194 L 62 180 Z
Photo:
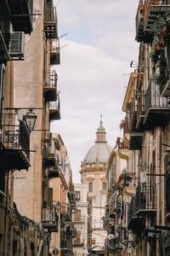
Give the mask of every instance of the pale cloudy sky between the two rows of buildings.
M 138 61 L 135 16 L 138 0 L 54 0 L 60 38 L 61 119 L 51 131 L 63 138 L 73 172 L 80 182 L 81 162 L 94 145 L 100 115 L 107 141 L 122 137 L 131 61 Z M 66 33 L 66 35 L 65 35 Z M 65 35 L 65 36 L 63 36 Z M 62 37 L 63 36 L 63 37 Z

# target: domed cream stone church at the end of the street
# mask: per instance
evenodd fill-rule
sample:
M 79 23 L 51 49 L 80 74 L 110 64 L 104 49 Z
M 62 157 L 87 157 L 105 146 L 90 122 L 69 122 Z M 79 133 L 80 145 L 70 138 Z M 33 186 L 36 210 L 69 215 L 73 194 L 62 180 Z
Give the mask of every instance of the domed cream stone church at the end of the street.
M 81 166 L 82 184 L 88 184 L 88 253 L 104 255 L 106 232 L 102 218 L 105 215 L 107 180 L 106 170 L 111 146 L 100 121 L 96 141 L 88 150 Z

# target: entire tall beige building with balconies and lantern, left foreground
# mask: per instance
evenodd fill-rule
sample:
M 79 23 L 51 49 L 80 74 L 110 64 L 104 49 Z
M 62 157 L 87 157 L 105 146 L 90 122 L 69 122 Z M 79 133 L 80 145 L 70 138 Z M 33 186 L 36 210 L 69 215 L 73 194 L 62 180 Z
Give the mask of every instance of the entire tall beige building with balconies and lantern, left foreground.
M 5 0 L 0 12 L 0 253 L 48 255 L 58 230 L 48 201 L 50 122 L 60 119 L 56 10 L 48 0 Z

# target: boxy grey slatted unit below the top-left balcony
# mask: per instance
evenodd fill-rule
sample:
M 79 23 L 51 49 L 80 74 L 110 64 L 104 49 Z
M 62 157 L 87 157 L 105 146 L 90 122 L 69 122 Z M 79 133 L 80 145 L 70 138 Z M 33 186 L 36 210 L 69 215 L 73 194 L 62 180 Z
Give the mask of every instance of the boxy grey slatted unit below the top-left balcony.
M 24 60 L 24 44 L 25 33 L 24 32 L 11 32 L 8 46 L 8 54 L 13 61 Z

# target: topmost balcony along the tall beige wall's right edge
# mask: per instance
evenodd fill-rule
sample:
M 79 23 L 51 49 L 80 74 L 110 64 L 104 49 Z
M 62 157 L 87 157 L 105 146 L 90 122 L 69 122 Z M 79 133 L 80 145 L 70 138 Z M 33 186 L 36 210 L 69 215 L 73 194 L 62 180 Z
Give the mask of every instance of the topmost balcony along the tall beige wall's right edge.
M 58 38 L 57 15 L 53 0 L 45 1 L 43 27 L 47 39 Z

